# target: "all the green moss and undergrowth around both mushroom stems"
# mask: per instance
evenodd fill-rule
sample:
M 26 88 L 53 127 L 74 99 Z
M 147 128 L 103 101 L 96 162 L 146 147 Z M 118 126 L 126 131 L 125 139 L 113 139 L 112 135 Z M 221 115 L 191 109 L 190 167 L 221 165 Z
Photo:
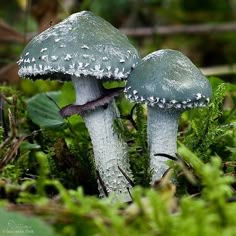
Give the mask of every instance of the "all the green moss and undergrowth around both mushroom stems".
M 32 107 L 37 113 L 31 116 L 29 108 L 25 109 L 28 99 L 21 96 L 15 101 L 13 91 L 5 90 L 8 102 L 3 109 L 4 117 L 18 122 L 12 125 L 5 122 L 12 138 L 1 150 L 0 164 L 15 144 L 19 143 L 19 147 L 0 170 L 1 205 L 49 222 L 49 230 L 53 228 L 63 236 L 235 235 L 235 180 L 224 174 L 235 174 L 236 140 L 232 130 L 235 113 L 234 109 L 224 108 L 224 99 L 227 95 L 233 104 L 236 101 L 233 85 L 214 81 L 214 98 L 209 108 L 185 113 L 180 124 L 183 130 L 178 145 L 180 160 L 172 164 L 178 184 L 169 181 L 172 178 L 169 173 L 154 188 L 136 186 L 130 205 L 114 203 L 112 197 L 96 197 L 92 147 L 81 118 L 73 116 L 63 120 L 67 126 L 62 129 L 51 129 L 57 123 L 59 108 L 45 94 L 39 94 L 32 99 L 36 104 L 38 99 L 46 101 L 47 107 L 40 109 L 54 112 L 50 126 L 44 127 L 40 123 L 43 115 L 36 105 Z M 69 83 L 63 86 L 62 93 L 49 94 L 55 95 L 53 100 L 63 106 L 74 99 L 72 96 L 65 99 L 67 93 L 72 93 Z M 122 97 L 117 103 L 122 119 L 114 128 L 128 143 L 135 184 L 149 186 L 145 107 L 133 107 Z M 32 117 L 40 119 L 32 122 Z M 219 158 L 221 154 L 225 154 L 223 161 Z M 225 170 L 225 165 L 230 167 Z M 18 218 L 12 217 L 18 223 Z M 28 225 L 31 226 L 30 221 Z M 41 227 L 40 223 L 37 226 Z

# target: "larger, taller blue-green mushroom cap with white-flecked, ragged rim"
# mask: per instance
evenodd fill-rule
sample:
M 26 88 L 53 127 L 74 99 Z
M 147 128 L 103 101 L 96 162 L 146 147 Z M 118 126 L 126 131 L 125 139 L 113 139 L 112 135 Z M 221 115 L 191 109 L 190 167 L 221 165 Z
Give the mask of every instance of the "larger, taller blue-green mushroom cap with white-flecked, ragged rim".
M 18 73 L 31 79 L 68 80 L 70 75 L 126 79 L 139 60 L 123 33 L 82 11 L 34 37 L 21 54 Z

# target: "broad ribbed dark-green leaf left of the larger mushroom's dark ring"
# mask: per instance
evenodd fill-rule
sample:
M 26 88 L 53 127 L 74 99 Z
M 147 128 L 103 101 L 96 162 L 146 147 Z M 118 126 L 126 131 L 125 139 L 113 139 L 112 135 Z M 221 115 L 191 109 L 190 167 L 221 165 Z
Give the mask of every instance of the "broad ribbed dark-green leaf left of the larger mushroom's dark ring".
M 40 93 L 27 101 L 29 118 L 37 125 L 49 129 L 64 129 L 66 122 L 57 106 L 60 91 Z

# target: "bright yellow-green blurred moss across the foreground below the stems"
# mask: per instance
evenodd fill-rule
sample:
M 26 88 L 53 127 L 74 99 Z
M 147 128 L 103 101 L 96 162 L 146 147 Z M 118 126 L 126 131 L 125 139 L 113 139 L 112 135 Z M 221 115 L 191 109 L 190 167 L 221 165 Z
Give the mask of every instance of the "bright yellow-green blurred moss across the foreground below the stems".
M 44 178 L 47 171 L 42 170 L 36 189 L 45 191 L 45 186 L 53 186 L 59 202 L 45 202 L 42 194 L 35 202 L 37 210 L 31 211 L 43 219 L 50 216 L 60 235 L 235 235 L 236 202 L 228 202 L 233 179 L 223 176 L 220 159 L 214 157 L 205 165 L 184 145 L 180 145 L 179 153 L 198 175 L 203 186 L 200 198 L 183 196 L 178 202 L 175 187 L 167 177 L 156 189 L 136 187 L 133 203 L 126 206 L 112 203 L 111 198 L 88 197 L 81 188 L 66 190 L 59 181 Z M 40 155 L 44 156 L 41 168 L 45 168 L 46 156 Z M 32 203 L 32 199 L 25 198 L 25 202 Z

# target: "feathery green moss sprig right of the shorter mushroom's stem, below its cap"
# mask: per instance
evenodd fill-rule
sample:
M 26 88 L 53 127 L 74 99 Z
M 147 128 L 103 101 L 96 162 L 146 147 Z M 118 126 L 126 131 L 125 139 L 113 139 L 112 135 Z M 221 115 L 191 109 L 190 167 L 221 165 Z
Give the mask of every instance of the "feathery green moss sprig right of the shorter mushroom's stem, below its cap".
M 196 109 L 191 112 L 191 129 L 185 136 L 185 143 L 204 160 L 209 160 L 212 155 L 211 146 L 219 143 L 219 140 L 234 129 L 234 125 L 225 124 L 223 120 L 223 101 L 227 91 L 227 85 L 221 83 L 207 108 Z

